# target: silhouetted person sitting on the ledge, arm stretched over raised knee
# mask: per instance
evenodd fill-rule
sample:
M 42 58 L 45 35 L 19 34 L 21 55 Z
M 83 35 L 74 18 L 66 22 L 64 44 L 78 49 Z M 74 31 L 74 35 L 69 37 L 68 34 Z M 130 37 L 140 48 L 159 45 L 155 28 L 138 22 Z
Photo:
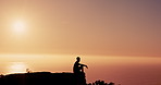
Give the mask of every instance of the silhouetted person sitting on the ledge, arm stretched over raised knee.
M 77 57 L 76 58 L 76 62 L 74 63 L 74 66 L 73 66 L 73 72 L 75 74 L 84 73 L 84 66 L 86 66 L 88 69 L 87 65 L 79 63 L 79 61 L 81 61 L 81 58 Z

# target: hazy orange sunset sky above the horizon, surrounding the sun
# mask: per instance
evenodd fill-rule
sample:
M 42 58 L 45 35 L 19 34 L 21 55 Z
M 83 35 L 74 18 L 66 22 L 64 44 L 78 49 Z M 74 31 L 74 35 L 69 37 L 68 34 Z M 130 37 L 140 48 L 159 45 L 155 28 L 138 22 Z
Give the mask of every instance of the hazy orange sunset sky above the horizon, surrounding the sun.
M 161 2 L 0 0 L 0 53 L 161 56 Z M 24 32 L 13 23 L 25 23 Z

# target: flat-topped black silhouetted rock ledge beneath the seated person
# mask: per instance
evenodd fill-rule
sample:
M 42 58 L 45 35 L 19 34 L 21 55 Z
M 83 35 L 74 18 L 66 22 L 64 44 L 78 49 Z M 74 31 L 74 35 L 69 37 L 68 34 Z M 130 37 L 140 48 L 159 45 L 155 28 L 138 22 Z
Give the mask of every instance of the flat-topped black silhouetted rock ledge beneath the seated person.
M 0 85 L 86 85 L 86 78 L 74 73 L 18 73 L 1 75 Z

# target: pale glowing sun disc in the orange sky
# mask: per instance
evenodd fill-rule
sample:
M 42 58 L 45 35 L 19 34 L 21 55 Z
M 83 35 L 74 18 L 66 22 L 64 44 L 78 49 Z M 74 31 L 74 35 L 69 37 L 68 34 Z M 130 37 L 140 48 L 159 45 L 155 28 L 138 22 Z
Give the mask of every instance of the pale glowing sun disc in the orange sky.
M 13 32 L 17 34 L 26 32 L 26 23 L 23 21 L 15 21 L 13 23 Z

